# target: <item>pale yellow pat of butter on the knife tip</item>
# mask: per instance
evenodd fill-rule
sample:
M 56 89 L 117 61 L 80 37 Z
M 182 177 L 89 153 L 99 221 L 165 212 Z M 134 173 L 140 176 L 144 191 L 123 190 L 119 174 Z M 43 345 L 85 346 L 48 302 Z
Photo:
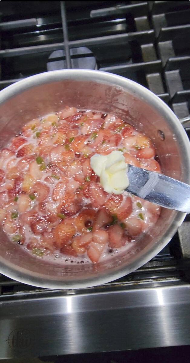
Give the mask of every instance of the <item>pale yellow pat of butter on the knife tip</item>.
M 100 184 L 108 193 L 122 194 L 129 185 L 128 166 L 122 151 L 112 151 L 108 155 L 94 154 L 90 166 L 100 176 Z

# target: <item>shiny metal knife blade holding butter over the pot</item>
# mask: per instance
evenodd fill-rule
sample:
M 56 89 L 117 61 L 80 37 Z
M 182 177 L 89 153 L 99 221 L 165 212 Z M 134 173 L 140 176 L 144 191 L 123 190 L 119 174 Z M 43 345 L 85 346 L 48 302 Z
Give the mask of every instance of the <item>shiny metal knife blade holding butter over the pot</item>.
M 190 213 L 190 185 L 154 171 L 128 166 L 126 191 L 162 207 Z

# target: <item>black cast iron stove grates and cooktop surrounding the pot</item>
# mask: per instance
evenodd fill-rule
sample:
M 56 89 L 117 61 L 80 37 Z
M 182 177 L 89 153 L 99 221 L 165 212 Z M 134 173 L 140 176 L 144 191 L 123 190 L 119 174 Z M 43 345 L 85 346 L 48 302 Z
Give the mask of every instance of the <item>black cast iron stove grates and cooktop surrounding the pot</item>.
M 50 69 L 99 69 L 149 88 L 178 117 L 190 113 L 189 1 L 8 3 L 0 4 L 0 89 Z M 106 286 L 189 281 L 188 226 L 187 218 L 150 262 Z M 0 291 L 7 298 L 48 290 L 1 275 Z

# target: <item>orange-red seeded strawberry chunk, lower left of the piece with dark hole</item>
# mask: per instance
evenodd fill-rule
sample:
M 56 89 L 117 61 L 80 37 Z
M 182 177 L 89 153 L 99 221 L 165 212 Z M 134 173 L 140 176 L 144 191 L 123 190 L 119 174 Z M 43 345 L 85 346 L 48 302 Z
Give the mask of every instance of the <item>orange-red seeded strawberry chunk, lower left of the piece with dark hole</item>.
M 55 246 L 61 248 L 64 245 L 68 245 L 75 234 L 75 227 L 71 223 L 62 221 L 54 229 Z

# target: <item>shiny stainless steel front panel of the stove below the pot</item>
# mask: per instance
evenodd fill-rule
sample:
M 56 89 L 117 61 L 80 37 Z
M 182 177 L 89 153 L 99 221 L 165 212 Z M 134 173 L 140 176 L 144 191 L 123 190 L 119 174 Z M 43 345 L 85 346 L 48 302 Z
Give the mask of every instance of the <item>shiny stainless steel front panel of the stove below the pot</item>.
M 190 286 L 179 282 L 32 300 L 21 297 L 1 305 L 1 358 L 190 344 L 189 311 Z M 21 339 L 28 342 L 26 349 Z

